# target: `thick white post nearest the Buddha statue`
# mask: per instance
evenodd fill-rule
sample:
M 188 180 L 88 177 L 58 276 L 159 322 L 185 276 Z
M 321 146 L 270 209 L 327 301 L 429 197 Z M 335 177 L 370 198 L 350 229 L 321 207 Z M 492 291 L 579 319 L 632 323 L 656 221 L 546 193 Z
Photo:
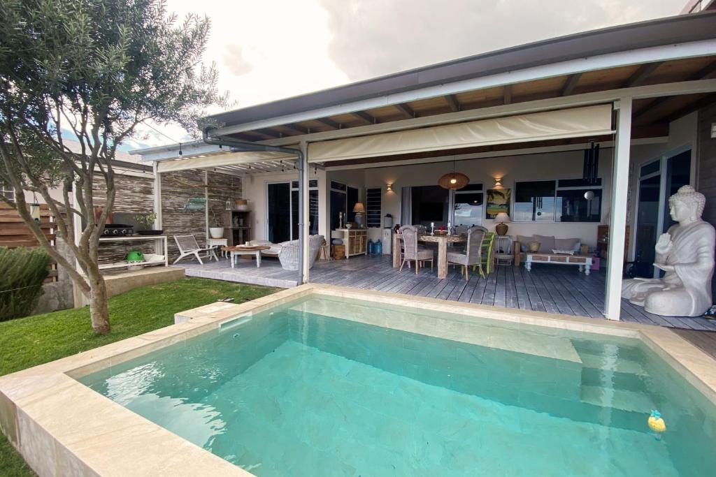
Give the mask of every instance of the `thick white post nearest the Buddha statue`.
M 627 233 L 627 192 L 629 191 L 629 147 L 632 142 L 632 98 L 619 99 L 616 119 L 614 165 L 611 172 L 611 220 L 609 221 L 609 262 L 606 267 L 604 315 L 619 320 L 621 277 L 624 273 L 624 235 Z

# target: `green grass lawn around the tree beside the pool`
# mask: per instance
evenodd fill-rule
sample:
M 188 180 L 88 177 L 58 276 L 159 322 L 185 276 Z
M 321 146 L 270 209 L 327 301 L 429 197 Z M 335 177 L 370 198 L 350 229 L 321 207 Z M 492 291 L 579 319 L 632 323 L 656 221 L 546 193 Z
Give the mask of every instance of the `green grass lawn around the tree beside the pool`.
M 276 292 L 205 278 L 137 288 L 110 298 L 112 332 L 95 335 L 89 309 L 62 310 L 0 323 L 0 375 L 141 335 L 174 323 L 174 313 L 232 297 L 243 303 Z M 0 476 L 34 476 L 0 433 Z

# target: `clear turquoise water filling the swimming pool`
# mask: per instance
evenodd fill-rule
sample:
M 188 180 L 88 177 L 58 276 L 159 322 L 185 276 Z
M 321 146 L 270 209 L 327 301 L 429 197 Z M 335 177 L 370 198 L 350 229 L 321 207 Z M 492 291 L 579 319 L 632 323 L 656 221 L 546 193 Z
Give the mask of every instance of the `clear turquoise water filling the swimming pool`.
M 311 298 L 81 381 L 258 476 L 714 475 L 714 406 L 637 340 L 485 320 L 480 346 L 342 313 L 416 314 Z

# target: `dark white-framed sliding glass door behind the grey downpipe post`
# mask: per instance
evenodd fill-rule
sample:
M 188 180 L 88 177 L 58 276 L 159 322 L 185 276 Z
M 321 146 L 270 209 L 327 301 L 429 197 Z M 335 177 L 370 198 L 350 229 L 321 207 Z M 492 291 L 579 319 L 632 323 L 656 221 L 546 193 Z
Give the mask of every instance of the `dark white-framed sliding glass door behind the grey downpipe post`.
M 318 233 L 318 181 L 309 181 L 309 234 Z M 299 238 L 299 182 L 266 185 L 267 240 L 274 243 Z

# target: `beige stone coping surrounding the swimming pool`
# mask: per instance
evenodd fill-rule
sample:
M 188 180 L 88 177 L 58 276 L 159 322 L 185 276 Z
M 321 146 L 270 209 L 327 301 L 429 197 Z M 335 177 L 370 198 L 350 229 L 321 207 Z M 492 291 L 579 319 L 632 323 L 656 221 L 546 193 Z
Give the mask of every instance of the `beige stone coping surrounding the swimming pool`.
M 449 330 L 457 338 L 471 318 L 507 321 L 572 333 L 616 335 L 642 340 L 716 403 L 716 360 L 668 328 L 533 311 L 455 303 L 390 292 L 307 284 L 248 303 L 213 303 L 175 315 L 175 325 L 127 338 L 34 368 L 0 377 L 0 428 L 39 476 L 251 476 L 132 413 L 75 378 L 124 363 L 173 343 L 216 329 L 237 315 L 251 315 L 307 295 L 368 299 L 422 313 L 434 310 L 465 317 Z M 382 316 L 365 323 L 392 328 Z M 421 333 L 420 323 L 400 328 Z M 445 336 L 449 338 L 448 335 Z

